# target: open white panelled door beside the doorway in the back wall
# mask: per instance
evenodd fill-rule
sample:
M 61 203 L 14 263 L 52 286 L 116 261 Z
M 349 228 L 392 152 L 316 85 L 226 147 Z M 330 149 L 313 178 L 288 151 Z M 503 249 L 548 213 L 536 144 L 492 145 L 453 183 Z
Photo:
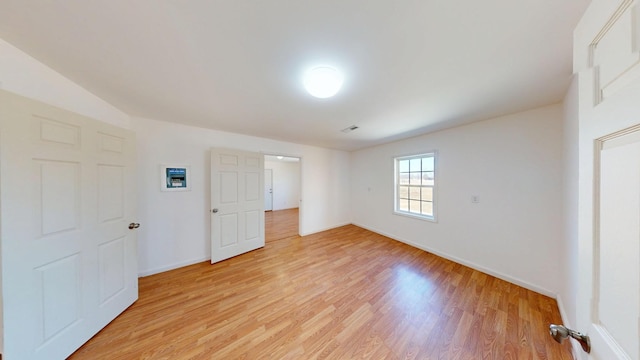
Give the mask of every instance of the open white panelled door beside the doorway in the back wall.
M 264 247 L 264 155 L 211 150 L 211 263 Z

